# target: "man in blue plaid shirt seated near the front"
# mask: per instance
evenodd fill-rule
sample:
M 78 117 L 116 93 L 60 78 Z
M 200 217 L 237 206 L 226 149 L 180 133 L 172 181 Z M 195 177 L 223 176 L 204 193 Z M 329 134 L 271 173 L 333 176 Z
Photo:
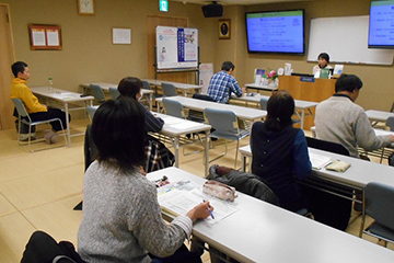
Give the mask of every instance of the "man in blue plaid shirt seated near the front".
M 242 96 L 245 92 L 232 76 L 234 68 L 235 66 L 231 61 L 224 61 L 221 71 L 213 75 L 210 79 L 208 95 L 216 102 L 229 103 L 231 92 L 235 93 L 236 96 Z

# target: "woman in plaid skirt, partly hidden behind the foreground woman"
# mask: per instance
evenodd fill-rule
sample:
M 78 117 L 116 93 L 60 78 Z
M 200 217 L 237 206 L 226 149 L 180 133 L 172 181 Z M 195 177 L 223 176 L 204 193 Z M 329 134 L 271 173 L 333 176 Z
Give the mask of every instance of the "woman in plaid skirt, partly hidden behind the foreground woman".
M 135 77 L 126 77 L 120 80 L 118 84 L 118 91 L 120 96 L 132 98 L 136 101 L 139 101 L 142 98 L 142 81 Z M 162 130 L 164 121 L 160 117 L 153 116 L 153 114 L 144 106 L 146 122 L 144 128 L 146 132 L 159 133 Z M 147 172 L 152 172 L 160 170 L 166 167 L 172 167 L 175 162 L 174 155 L 158 139 L 147 134 L 146 139 L 147 147 L 147 161 L 144 164 L 144 170 Z

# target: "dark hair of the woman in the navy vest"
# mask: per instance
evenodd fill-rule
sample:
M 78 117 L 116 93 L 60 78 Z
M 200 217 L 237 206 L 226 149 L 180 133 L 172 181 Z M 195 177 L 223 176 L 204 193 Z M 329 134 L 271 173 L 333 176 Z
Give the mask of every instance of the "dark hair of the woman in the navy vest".
M 292 125 L 294 100 L 287 91 L 277 91 L 267 103 L 266 125 L 269 130 L 281 130 Z

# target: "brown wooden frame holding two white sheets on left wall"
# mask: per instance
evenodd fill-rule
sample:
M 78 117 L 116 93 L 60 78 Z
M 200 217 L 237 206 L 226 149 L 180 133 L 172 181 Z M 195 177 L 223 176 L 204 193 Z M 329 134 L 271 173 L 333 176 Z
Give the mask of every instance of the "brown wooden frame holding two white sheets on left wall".
M 32 50 L 61 50 L 61 30 L 59 25 L 30 24 Z

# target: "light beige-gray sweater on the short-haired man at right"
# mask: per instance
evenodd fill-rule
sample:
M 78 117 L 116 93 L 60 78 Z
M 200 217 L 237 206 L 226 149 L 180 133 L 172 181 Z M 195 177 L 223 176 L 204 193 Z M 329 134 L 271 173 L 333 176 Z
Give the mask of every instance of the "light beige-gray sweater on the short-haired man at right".
M 317 139 L 340 144 L 352 157 L 359 157 L 357 145 L 376 150 L 391 142 L 389 136 L 375 136 L 363 108 L 344 95 L 334 95 L 317 105 L 315 126 Z

